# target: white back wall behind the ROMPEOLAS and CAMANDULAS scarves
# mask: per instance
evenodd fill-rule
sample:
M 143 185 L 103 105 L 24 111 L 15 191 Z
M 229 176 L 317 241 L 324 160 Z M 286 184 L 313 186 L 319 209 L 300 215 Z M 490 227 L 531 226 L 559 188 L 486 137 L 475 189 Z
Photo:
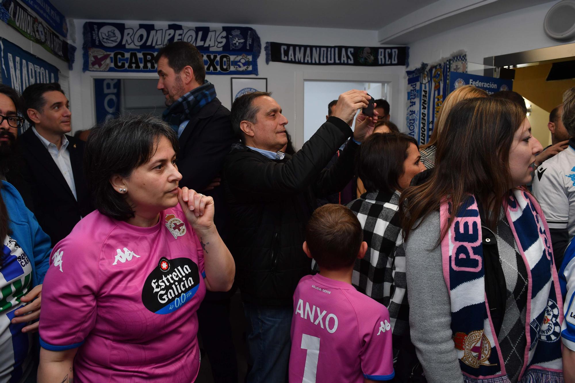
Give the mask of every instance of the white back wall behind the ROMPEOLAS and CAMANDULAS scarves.
M 75 20 L 76 36 L 82 36 L 82 27 L 86 20 Z M 128 22 L 128 21 L 124 21 Z M 130 21 L 138 22 L 138 21 Z M 175 22 L 175 21 L 174 21 Z M 183 23 L 187 24 L 187 23 Z M 198 24 L 221 25 L 221 24 Z M 258 60 L 259 77 L 267 78 L 267 89 L 272 91 L 273 97 L 283 108 L 283 113 L 289 120 L 287 128 L 292 131 L 292 139 L 296 148 L 304 143 L 304 79 L 345 80 L 359 82 L 393 82 L 390 84 L 389 103 L 392 116 L 405 109 L 405 84 L 400 80 L 405 75 L 405 67 L 346 67 L 346 66 L 308 66 L 270 62 L 266 65 L 266 41 L 278 41 L 293 44 L 313 45 L 366 45 L 378 46 L 377 32 L 372 30 L 347 30 L 327 28 L 302 28 L 290 26 L 249 25 L 258 32 L 262 41 L 262 52 Z M 81 44 L 80 44 L 81 45 Z M 82 72 L 82 49 L 76 52 L 76 64 L 70 74 L 70 87 L 74 103 L 72 115 L 74 121 L 81 121 L 82 126 L 75 125 L 75 129 L 87 129 L 94 123 L 92 101 L 92 83 L 95 76 L 124 77 L 124 78 L 154 78 L 156 74 L 111 74 L 99 72 Z M 231 76 L 207 76 L 208 81 L 216 87 L 218 98 L 227 108 L 231 107 Z M 159 90 L 151 89 L 151 92 Z M 337 98 L 338 94 L 333 95 Z M 401 105 L 400 105 L 401 104 Z M 403 113 L 403 112 L 402 112 Z M 403 118 L 402 120 L 405 120 Z M 405 121 L 398 121 L 402 127 Z

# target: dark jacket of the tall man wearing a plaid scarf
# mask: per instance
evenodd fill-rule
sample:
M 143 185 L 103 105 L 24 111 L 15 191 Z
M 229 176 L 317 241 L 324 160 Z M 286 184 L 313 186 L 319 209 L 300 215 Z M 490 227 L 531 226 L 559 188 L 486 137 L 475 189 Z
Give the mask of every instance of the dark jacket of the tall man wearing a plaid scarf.
M 238 141 L 232 131 L 229 110 L 214 98 L 194 116 L 190 116 L 182 135 L 179 137 L 178 170 L 182 173 L 179 186 L 186 186 L 199 193 L 221 175 L 224 158 L 229 153 L 232 143 Z M 228 213 L 224 204 L 224 193 L 221 186 L 204 194 L 212 196 L 216 216 L 214 223 L 225 240 L 228 232 Z

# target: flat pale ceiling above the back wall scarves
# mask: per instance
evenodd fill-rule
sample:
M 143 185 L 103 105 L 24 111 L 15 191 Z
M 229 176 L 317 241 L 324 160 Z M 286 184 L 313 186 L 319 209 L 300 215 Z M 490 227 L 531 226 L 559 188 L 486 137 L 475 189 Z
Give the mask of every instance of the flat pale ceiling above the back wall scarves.
M 437 0 L 51 0 L 88 20 L 214 22 L 379 30 Z

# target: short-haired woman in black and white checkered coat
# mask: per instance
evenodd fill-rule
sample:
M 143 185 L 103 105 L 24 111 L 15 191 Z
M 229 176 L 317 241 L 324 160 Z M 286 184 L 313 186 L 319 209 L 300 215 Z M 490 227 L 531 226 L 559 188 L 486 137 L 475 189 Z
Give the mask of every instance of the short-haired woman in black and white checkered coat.
M 413 137 L 402 133 L 374 133 L 362 143 L 357 160 L 357 173 L 366 193 L 347 205 L 362 224 L 363 240 L 369 246 L 365 258 L 355 263 L 352 284 L 388 308 L 396 357 L 400 346 L 405 342 L 409 344 L 405 255 L 401 246 L 398 201 L 401 191 L 424 169 Z M 404 362 L 408 361 L 400 364 Z M 397 376 L 401 376 L 402 370 L 411 370 L 407 365 L 402 368 L 397 364 L 395 369 Z

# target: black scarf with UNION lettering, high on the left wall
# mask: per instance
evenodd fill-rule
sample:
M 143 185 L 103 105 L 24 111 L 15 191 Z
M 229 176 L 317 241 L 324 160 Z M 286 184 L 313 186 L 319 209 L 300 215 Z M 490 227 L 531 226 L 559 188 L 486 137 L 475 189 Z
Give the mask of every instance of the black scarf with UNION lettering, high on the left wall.
M 33 10 L 17 0 L 0 0 L 0 18 L 26 39 L 40 44 L 48 52 L 68 63 L 72 69 L 76 47 L 50 28 Z

